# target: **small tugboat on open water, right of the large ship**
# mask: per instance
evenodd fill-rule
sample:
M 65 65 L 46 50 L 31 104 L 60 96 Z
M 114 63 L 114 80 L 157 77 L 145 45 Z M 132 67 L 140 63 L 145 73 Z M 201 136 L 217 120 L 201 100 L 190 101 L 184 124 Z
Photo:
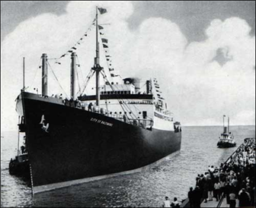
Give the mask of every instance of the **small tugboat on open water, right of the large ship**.
M 234 135 L 231 134 L 231 132 L 229 131 L 229 118 L 228 118 L 228 127 L 226 127 L 225 117 L 226 115 L 223 115 L 223 133 L 221 134 L 221 137 L 219 137 L 217 147 L 219 148 L 235 147 L 236 143 L 234 140 Z

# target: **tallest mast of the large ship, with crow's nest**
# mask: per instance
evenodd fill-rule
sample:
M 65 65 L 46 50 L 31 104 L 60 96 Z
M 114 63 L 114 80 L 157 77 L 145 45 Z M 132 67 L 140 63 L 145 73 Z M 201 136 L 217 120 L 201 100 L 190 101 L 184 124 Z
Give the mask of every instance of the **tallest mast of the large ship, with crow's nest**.
M 100 106 L 100 72 L 103 68 L 100 66 L 100 49 L 98 43 L 98 7 L 96 7 L 96 57 L 94 58 L 94 67 L 96 72 L 96 106 Z

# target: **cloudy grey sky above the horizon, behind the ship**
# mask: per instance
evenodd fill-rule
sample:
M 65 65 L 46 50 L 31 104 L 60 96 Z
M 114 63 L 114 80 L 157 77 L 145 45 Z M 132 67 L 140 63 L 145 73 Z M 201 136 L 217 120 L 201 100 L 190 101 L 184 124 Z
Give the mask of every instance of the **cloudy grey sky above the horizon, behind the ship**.
M 222 125 L 222 115 L 233 125 L 255 124 L 254 1 L 2 1 L 2 131 L 17 128 L 14 99 L 22 87 L 23 57 L 27 90 L 40 88 L 40 56 L 47 53 L 62 86 L 50 78 L 50 93 L 68 94 L 70 58 L 62 58 L 62 65 L 52 58 L 88 30 L 96 5 L 107 8 L 99 22 L 107 24 L 115 72 L 157 77 L 181 124 Z M 90 28 L 76 51 L 81 80 L 93 65 Z M 101 65 L 107 68 L 104 58 Z

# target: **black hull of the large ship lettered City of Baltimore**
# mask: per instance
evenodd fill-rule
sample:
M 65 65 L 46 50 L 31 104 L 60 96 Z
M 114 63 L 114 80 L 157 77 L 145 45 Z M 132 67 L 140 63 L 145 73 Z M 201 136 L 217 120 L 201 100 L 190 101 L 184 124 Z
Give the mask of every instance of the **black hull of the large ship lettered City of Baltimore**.
M 146 130 L 30 93 L 23 104 L 34 187 L 139 169 L 181 149 L 181 132 Z

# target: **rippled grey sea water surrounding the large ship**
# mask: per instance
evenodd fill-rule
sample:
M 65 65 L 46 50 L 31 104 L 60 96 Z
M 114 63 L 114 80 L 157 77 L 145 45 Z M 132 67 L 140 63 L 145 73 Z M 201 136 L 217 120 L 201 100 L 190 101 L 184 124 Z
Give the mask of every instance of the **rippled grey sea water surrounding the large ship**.
M 255 126 L 232 126 L 237 147 L 255 137 Z M 165 196 L 184 200 L 197 174 L 219 167 L 237 147 L 219 149 L 222 127 L 183 127 L 181 152 L 146 172 L 107 178 L 31 196 L 26 181 L 9 175 L 8 162 L 17 153 L 17 132 L 2 132 L 1 206 L 162 206 Z

